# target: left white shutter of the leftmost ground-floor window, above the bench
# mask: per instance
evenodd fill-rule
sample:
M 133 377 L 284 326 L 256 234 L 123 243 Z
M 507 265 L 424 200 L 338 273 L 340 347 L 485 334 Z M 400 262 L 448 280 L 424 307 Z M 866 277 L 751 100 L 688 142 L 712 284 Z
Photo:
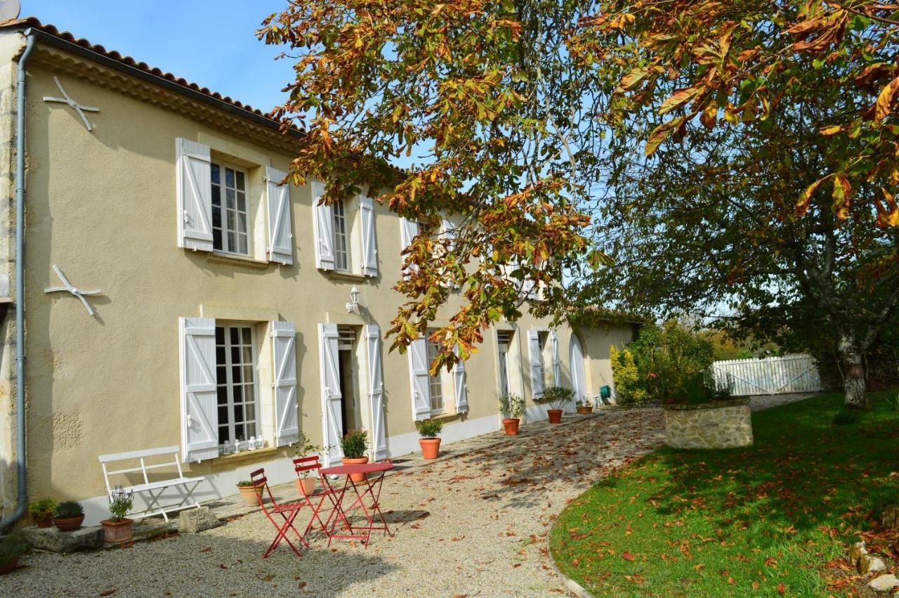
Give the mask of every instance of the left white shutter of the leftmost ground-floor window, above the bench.
M 178 318 L 181 354 L 182 460 L 218 457 L 216 321 Z

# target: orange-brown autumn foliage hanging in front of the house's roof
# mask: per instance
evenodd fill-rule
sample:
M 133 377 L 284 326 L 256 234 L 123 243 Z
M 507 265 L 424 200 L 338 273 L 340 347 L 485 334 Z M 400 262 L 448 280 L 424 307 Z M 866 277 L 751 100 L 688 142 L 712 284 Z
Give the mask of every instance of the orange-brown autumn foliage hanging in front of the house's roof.
M 451 293 L 464 298 L 432 335 L 443 344 L 433 368 L 454 348 L 467 357 L 501 317 L 519 317 L 534 286 L 560 302 L 562 273 L 603 257 L 579 206 L 598 178 L 601 74 L 579 69 L 567 48 L 594 9 L 299 0 L 263 23 L 263 39 L 297 60 L 275 111 L 307 131 L 290 176 L 325 181 L 324 201 L 383 191 L 379 201 L 424 224 L 396 286 L 408 300 L 388 332 L 393 346 L 423 334 Z

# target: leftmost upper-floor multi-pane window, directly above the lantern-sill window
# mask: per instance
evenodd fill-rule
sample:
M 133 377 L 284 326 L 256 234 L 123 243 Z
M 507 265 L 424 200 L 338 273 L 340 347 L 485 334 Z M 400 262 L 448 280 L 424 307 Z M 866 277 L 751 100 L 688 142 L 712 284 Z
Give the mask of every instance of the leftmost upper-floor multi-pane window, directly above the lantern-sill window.
M 249 210 L 246 199 L 246 174 L 231 166 L 213 162 L 212 247 L 226 254 L 249 255 Z

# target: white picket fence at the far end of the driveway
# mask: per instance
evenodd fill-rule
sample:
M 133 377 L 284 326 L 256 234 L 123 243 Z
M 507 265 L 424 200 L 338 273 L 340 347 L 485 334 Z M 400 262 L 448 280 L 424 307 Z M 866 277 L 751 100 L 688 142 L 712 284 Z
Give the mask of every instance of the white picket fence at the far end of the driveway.
M 735 396 L 782 395 L 822 389 L 818 366 L 809 355 L 715 361 L 712 373 L 719 384 L 725 384 L 727 374 L 730 374 Z

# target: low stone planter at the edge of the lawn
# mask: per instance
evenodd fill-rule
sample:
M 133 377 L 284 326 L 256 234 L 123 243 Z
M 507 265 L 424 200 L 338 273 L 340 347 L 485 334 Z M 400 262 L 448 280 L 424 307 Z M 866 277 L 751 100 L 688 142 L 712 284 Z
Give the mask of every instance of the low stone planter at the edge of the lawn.
M 733 449 L 752 446 L 748 398 L 663 405 L 665 443 L 674 449 Z

